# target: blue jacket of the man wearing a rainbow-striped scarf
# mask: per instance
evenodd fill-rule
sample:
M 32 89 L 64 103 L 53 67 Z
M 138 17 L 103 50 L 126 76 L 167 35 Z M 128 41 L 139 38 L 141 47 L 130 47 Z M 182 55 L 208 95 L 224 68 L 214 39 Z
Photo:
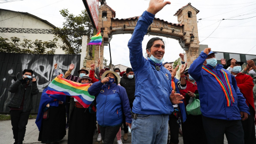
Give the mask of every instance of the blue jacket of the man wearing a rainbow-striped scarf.
M 227 100 L 220 87 L 220 84 L 213 75 L 202 69 L 206 58 L 207 54 L 202 51 L 188 70 L 189 75 L 196 80 L 198 92 L 200 94 L 199 99 L 202 115 L 216 119 L 239 120 L 241 119 L 240 111 L 250 114 L 249 107 L 245 103 L 245 98 L 237 87 L 235 77 L 226 69 L 223 69 L 222 65 L 218 64 L 215 68 L 207 65 L 208 68 L 213 70 L 222 79 L 223 76 L 220 72 L 221 69 L 228 74 L 228 79 L 235 102 L 232 103 L 232 106 L 227 106 Z

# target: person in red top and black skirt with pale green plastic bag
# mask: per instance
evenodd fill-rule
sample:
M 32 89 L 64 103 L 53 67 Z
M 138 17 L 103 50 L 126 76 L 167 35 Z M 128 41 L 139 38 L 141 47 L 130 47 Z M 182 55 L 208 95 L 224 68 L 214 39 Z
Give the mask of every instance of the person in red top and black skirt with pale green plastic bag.
M 193 77 L 191 77 L 188 73 L 189 68 L 184 71 L 187 88 L 185 90 L 180 90 L 180 94 L 185 97 L 184 104 L 185 107 L 188 103 L 193 102 L 193 99 L 199 99 L 199 93 L 197 90 L 196 81 Z M 187 113 L 186 113 L 187 114 Z M 181 124 L 182 126 L 182 136 L 183 136 L 183 143 L 207 143 L 203 122 L 202 122 L 202 115 L 188 115 L 186 122 Z

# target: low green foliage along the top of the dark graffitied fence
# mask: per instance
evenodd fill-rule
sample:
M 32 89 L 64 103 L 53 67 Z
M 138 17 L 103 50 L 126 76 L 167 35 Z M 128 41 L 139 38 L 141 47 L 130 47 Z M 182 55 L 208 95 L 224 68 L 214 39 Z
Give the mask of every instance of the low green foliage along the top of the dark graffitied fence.
M 58 38 L 54 38 L 52 41 L 45 41 L 36 39 L 32 42 L 29 39 L 23 39 L 23 43 L 20 42 L 20 38 L 11 37 L 8 42 L 8 38 L 0 36 L 0 52 L 5 53 L 26 53 L 26 54 L 54 54 L 57 49 Z

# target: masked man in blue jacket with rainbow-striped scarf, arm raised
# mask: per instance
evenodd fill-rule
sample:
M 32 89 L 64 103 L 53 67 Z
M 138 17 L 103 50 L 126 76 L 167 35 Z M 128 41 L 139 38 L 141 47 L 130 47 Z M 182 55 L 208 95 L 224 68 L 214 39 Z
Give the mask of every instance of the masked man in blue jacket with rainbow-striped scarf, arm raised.
M 214 53 L 210 48 L 204 49 L 188 71 L 196 80 L 200 93 L 207 143 L 222 144 L 226 134 L 228 143 L 243 144 L 241 117 L 242 121 L 248 117 L 249 107 L 235 77 L 222 65 L 217 65 Z

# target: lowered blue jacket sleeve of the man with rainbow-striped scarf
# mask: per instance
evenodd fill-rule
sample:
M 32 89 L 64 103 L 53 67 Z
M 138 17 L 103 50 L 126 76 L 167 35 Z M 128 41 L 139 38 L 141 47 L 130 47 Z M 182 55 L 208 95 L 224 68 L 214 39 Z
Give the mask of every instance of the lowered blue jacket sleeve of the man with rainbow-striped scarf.
M 238 98 L 237 106 L 238 106 L 239 111 L 243 111 L 243 112 L 250 115 L 250 109 L 249 109 L 249 107 L 247 106 L 247 104 L 245 102 L 246 100 L 245 100 L 243 94 L 240 92 L 240 90 L 237 86 L 236 78 L 234 76 L 232 76 L 232 85 L 233 85 L 233 87 L 236 91 L 236 94 L 237 94 L 237 98 Z

